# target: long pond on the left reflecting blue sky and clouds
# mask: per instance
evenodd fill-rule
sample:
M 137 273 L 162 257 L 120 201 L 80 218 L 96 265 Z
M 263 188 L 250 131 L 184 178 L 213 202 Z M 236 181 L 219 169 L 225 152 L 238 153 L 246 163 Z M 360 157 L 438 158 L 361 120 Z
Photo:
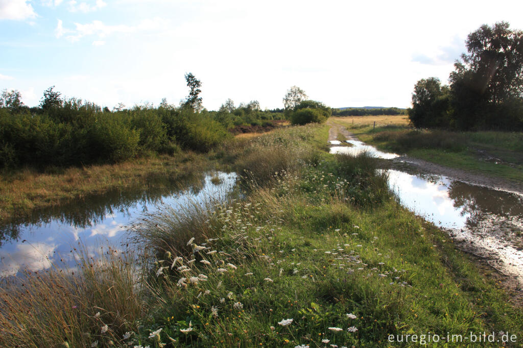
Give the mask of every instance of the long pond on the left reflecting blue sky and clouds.
M 128 226 L 141 215 L 164 204 L 176 209 L 189 200 L 221 200 L 235 183 L 235 173 L 207 173 L 170 182 L 161 190 L 113 191 L 35 211 L 26 221 L 13 220 L 0 227 L 0 276 L 45 270 L 53 264 L 73 267 L 73 248 L 84 248 L 92 255 L 104 245 L 120 250 L 130 237 Z

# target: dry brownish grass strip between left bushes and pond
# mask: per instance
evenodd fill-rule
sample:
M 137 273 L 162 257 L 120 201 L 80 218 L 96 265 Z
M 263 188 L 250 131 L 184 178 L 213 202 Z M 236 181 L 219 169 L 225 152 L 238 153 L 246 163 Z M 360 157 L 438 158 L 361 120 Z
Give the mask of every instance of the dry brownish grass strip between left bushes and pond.
M 56 169 L 42 173 L 23 169 L 0 173 L 0 221 L 14 214 L 63 204 L 86 194 L 104 193 L 114 188 L 147 185 L 153 177 L 177 177 L 199 172 L 204 166 L 201 155 L 184 153 L 173 156 L 139 158 L 112 165 L 93 165 Z

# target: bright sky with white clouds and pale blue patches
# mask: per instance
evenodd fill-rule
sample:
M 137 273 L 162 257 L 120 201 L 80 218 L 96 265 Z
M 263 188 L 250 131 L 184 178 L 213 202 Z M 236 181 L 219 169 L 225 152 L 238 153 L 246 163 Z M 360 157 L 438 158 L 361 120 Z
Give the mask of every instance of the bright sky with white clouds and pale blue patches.
M 36 106 L 50 86 L 110 109 L 178 105 L 184 75 L 203 106 L 282 108 L 292 86 L 338 107 L 408 108 L 419 79 L 446 83 L 470 32 L 520 1 L 0 0 L 0 90 Z

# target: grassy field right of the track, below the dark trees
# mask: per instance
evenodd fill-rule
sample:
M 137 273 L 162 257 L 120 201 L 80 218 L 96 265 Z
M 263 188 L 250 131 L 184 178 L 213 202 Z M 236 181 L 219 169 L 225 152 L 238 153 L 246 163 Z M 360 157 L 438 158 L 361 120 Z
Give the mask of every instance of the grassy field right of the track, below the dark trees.
M 520 132 L 413 130 L 404 116 L 345 117 L 335 121 L 362 141 L 383 150 L 490 177 L 523 181 L 523 134 Z

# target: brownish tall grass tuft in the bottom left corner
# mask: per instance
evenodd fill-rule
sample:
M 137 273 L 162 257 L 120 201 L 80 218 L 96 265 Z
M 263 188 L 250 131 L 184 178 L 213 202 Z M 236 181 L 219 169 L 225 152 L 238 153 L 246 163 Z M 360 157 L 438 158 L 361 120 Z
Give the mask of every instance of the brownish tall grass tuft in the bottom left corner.
M 112 248 L 96 259 L 85 249 L 73 257 L 75 269 L 26 271 L 0 288 L 0 346 L 109 346 L 138 330 L 146 315 L 144 262 Z

